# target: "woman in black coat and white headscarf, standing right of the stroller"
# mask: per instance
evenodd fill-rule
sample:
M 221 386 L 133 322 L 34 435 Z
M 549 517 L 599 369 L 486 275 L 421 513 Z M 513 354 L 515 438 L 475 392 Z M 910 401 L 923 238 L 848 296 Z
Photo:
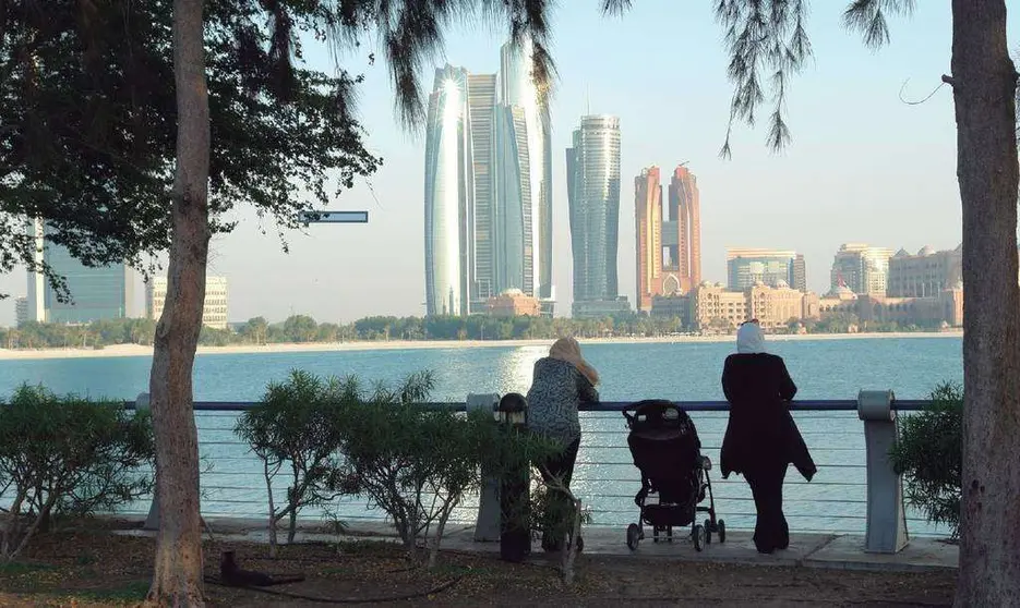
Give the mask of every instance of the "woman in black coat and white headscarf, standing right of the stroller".
M 741 324 L 736 354 L 727 357 L 722 390 L 730 402 L 730 422 L 722 440 L 722 477 L 742 473 L 754 495 L 758 552 L 790 546 L 782 512 L 782 484 L 790 464 L 808 482 L 817 469 L 790 415 L 796 385 L 782 357 L 765 352 L 757 319 Z

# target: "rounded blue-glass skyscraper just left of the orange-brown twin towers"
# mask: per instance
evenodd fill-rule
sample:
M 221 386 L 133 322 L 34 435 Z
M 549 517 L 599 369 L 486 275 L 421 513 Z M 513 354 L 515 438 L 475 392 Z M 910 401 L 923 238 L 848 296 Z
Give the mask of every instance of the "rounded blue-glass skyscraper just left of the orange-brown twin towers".
M 615 301 L 620 232 L 620 119 L 586 115 L 566 150 L 574 308 Z M 583 307 L 583 306 L 580 306 Z

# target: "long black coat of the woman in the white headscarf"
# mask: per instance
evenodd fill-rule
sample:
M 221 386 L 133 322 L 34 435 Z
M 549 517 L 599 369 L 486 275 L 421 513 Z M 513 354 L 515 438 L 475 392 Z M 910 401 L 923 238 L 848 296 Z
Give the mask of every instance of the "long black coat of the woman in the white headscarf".
M 807 481 L 817 467 L 788 402 L 796 394 L 782 357 L 732 354 L 722 372 L 730 422 L 722 440 L 723 478 L 759 464 L 793 464 Z

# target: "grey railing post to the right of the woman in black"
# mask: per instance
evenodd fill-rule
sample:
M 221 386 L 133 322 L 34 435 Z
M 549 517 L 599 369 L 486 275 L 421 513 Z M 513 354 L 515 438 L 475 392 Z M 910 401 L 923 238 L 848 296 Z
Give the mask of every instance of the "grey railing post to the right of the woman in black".
M 897 441 L 895 401 L 891 390 L 862 390 L 857 394 L 857 417 L 864 421 L 867 450 L 864 550 L 873 554 L 896 554 L 910 542 L 903 509 L 903 478 L 889 461 L 889 451 Z

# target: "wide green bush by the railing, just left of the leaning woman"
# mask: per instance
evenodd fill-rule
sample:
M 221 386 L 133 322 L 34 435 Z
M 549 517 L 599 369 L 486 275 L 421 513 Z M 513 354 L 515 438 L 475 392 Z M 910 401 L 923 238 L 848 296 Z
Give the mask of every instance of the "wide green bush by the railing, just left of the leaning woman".
M 499 476 L 527 466 L 542 443 L 504 433 L 492 415 L 422 408 L 434 386 L 419 373 L 400 386 L 377 384 L 344 409 L 341 478 L 392 519 L 408 554 L 419 538 L 434 566 L 445 526 L 464 497 L 478 491 L 482 471 Z

